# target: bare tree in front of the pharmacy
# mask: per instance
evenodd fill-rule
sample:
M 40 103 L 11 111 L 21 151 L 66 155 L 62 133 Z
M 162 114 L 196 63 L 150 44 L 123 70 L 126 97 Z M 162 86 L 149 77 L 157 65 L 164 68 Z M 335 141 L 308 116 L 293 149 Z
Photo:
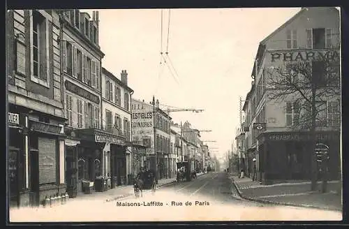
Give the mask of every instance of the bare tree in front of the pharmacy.
M 316 57 L 312 56 L 311 59 L 297 59 L 297 57 L 297 61 L 287 61 L 280 67 L 265 71 L 268 97 L 273 101 L 292 101 L 286 105 L 286 113 L 291 106 L 292 113 L 295 113 L 288 126 L 309 130 L 315 149 L 316 129 L 327 126 L 326 103 L 336 97 L 340 99 L 339 55 L 336 51 L 331 51 L 318 54 Z M 336 109 L 339 109 L 339 105 Z M 329 126 L 339 125 L 333 122 Z M 315 153 L 312 152 L 311 155 L 313 191 L 316 189 L 317 158 Z

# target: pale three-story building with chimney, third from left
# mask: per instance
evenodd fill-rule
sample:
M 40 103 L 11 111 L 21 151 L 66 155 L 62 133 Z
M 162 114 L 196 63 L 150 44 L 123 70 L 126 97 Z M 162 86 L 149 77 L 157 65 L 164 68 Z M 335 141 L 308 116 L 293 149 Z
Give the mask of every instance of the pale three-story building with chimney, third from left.
M 121 71 L 121 80 L 102 68 L 102 125 L 110 141 L 105 144 L 104 176 L 114 186 L 128 184 L 131 175 L 131 95 L 128 73 Z M 110 182 L 110 183 L 109 183 Z

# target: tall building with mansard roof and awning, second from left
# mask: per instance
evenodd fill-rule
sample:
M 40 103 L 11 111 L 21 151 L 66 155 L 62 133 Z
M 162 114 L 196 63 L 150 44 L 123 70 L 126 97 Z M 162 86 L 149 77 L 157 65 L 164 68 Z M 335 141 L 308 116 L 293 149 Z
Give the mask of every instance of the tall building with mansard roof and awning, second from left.
M 103 176 L 107 139 L 101 109 L 101 61 L 98 12 L 91 18 L 80 10 L 59 10 L 61 90 L 66 115 L 66 183 L 70 196 Z M 54 53 L 56 58 L 56 53 Z

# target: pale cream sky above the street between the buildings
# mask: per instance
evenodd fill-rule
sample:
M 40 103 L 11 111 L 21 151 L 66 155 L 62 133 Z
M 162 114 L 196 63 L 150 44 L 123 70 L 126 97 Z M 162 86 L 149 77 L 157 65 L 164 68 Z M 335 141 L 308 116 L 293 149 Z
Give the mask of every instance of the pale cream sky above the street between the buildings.
M 133 98 L 150 102 L 155 96 L 170 109 L 205 110 L 170 116 L 175 123 L 189 121 L 199 131 L 211 131 L 201 132 L 201 140 L 216 141 L 205 143 L 223 156 L 235 144 L 239 96 L 244 100 L 251 89 L 258 44 L 299 10 L 98 10 L 102 65 L 119 78 L 121 70 L 128 72 Z M 92 15 L 92 10 L 83 11 Z M 166 63 L 161 49 L 168 52 Z

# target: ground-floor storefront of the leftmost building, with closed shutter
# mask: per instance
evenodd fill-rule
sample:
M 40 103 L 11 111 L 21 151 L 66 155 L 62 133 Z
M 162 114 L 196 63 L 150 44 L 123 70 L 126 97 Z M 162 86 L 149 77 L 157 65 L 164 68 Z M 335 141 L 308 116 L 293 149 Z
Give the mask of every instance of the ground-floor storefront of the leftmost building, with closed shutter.
M 10 205 L 37 206 L 64 194 L 65 119 L 17 105 L 9 108 Z

